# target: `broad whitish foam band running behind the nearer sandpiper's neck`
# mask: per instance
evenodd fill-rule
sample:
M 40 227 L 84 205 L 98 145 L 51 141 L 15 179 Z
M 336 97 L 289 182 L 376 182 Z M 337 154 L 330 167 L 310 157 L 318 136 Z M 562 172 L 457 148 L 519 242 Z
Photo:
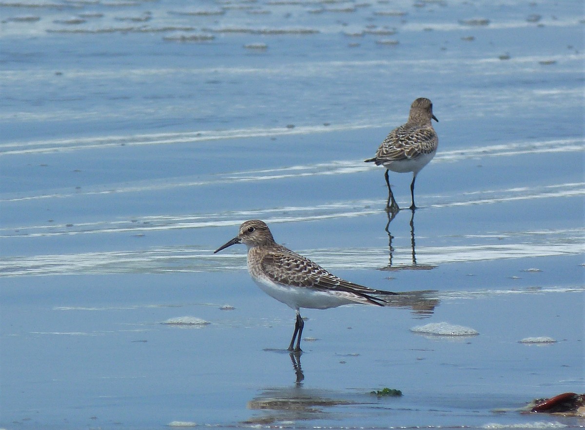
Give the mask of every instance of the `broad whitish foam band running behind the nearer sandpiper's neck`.
M 276 220 L 270 220 L 273 222 Z M 417 257 L 427 265 L 509 258 L 579 255 L 585 252 L 585 228 L 504 233 L 516 243 L 476 243 L 459 246 L 417 247 Z M 491 236 L 490 236 L 491 237 Z M 139 251 L 82 252 L 76 254 L 5 257 L 0 277 L 64 274 L 121 274 L 214 272 L 243 270 L 246 254 L 213 254 L 211 249 L 167 247 Z M 377 269 L 388 264 L 388 250 L 380 248 L 322 248 L 301 254 L 331 269 Z M 394 265 L 409 264 L 410 255 L 394 255 Z

